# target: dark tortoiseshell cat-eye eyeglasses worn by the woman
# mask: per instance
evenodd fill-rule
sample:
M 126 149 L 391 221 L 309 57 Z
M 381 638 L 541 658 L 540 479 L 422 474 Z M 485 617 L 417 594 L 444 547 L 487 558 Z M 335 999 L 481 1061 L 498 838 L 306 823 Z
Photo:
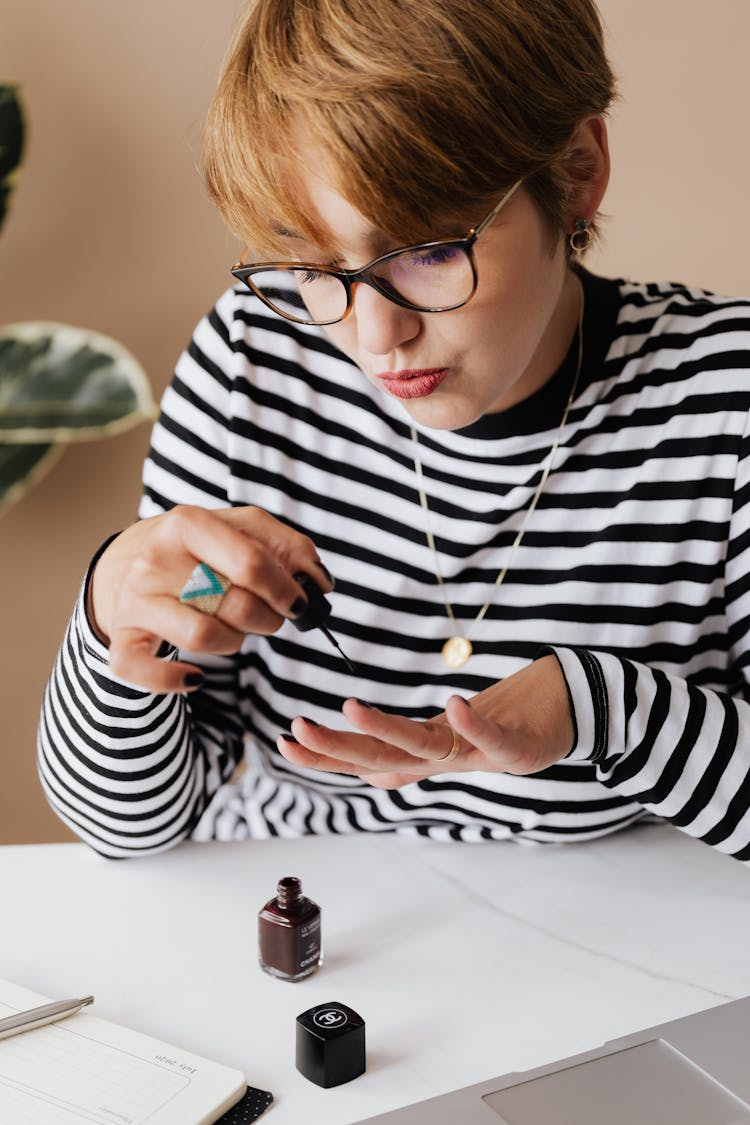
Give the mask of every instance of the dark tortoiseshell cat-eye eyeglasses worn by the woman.
M 360 282 L 401 308 L 448 313 L 461 308 L 477 289 L 473 245 L 499 215 L 517 180 L 489 215 L 463 238 L 440 238 L 404 246 L 374 258 L 360 270 L 307 262 L 237 262 L 232 273 L 279 316 L 297 324 L 337 324 L 352 310 L 353 288 Z

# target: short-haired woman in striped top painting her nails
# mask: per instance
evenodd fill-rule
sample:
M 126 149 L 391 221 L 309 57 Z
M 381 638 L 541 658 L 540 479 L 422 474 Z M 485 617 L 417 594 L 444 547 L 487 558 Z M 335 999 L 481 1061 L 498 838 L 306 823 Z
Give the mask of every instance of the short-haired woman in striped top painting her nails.
M 43 709 L 98 850 L 750 857 L 750 309 L 582 269 L 612 97 L 589 0 L 251 0 L 206 151 L 249 249 Z

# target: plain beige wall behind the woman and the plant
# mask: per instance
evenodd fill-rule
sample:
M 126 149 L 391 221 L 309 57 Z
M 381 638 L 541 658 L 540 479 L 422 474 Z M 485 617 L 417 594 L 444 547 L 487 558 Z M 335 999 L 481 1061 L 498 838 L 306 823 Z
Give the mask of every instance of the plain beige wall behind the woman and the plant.
M 373 0 L 377 2 L 377 0 Z M 0 321 L 121 339 L 159 394 L 235 246 L 201 195 L 201 115 L 241 0 L 0 0 L 30 116 Z M 593 268 L 750 292 L 748 0 L 602 0 L 622 100 Z M 0 521 L 0 843 L 70 838 L 38 790 L 38 702 L 80 576 L 133 518 L 147 442 L 69 449 Z

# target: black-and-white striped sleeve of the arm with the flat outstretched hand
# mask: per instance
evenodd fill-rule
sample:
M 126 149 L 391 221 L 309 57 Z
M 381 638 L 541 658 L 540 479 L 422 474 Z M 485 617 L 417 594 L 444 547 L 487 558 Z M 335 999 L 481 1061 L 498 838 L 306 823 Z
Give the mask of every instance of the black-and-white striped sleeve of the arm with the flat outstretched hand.
M 749 421 L 750 424 L 750 421 Z M 738 687 L 710 691 L 635 660 L 554 648 L 575 713 L 573 760 L 704 843 L 750 861 L 750 436 L 738 458 L 725 564 Z

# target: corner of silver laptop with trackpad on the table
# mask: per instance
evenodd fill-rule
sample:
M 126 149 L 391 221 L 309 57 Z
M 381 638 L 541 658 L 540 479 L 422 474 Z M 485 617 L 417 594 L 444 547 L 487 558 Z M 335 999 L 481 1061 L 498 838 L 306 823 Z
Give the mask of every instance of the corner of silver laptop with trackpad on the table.
M 750 997 L 359 1125 L 746 1125 Z

